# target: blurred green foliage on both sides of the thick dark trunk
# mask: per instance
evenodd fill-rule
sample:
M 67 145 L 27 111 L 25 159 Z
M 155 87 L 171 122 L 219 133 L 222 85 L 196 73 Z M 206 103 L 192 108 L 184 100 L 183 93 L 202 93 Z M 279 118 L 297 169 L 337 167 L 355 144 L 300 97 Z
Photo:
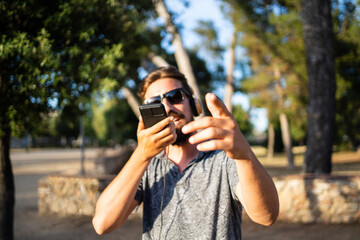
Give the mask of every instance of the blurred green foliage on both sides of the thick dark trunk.
M 287 114 L 293 140 L 304 142 L 307 129 L 308 85 L 300 1 L 223 1 L 224 12 L 241 32 L 251 75 L 242 81 L 255 107 L 268 109 L 276 125 Z M 336 143 L 357 148 L 360 143 L 360 23 L 359 1 L 332 1 L 337 72 Z M 275 74 L 280 73 L 280 79 Z

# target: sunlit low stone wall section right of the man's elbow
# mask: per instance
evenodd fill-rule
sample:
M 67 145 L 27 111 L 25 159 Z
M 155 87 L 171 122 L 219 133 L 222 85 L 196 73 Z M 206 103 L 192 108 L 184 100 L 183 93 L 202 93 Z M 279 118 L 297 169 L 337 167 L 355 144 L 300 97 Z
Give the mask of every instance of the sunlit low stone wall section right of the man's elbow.
M 360 222 L 360 176 L 292 175 L 274 178 L 280 220 Z

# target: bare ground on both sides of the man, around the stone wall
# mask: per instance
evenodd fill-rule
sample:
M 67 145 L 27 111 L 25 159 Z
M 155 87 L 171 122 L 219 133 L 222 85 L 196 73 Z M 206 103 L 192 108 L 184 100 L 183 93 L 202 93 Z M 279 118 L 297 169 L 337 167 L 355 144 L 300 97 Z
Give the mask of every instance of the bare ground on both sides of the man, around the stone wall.
M 86 151 L 86 170 L 92 168 L 92 159 L 98 149 Z M 261 155 L 261 154 L 260 154 Z M 301 155 L 301 153 L 298 153 Z M 37 210 L 37 184 L 39 179 L 52 173 L 75 174 L 80 170 L 80 151 L 75 150 L 31 150 L 12 151 L 11 159 L 15 175 L 15 239 L 17 240 L 65 240 L 65 239 L 140 239 L 141 219 L 132 218 L 115 232 L 98 236 L 91 225 L 91 217 L 56 215 L 40 216 Z M 290 173 L 301 171 L 298 167 Z M 284 162 L 263 160 L 272 175 L 286 173 Z M 336 173 L 358 173 L 359 154 L 345 153 L 334 155 Z M 287 172 L 289 173 L 289 172 Z M 354 224 L 300 224 L 278 221 L 270 227 L 260 226 L 244 217 L 243 239 L 327 239 L 347 240 L 360 236 L 360 223 Z

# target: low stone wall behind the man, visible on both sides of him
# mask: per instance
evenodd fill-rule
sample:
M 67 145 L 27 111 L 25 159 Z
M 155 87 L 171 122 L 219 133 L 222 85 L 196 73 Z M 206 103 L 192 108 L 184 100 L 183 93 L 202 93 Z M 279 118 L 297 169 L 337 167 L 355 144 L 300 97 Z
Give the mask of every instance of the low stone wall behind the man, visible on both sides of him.
M 45 177 L 39 182 L 39 212 L 92 216 L 97 198 L 113 177 Z M 279 220 L 360 222 L 360 176 L 292 175 L 274 178 L 274 182 L 280 199 Z

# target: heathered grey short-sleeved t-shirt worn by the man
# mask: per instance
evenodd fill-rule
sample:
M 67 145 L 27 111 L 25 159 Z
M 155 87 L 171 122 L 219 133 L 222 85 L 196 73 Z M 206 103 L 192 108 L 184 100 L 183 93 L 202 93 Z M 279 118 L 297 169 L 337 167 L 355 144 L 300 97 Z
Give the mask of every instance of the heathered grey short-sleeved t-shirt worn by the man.
M 143 239 L 241 239 L 237 183 L 223 151 L 200 152 L 182 173 L 157 155 L 135 195 L 143 202 Z

